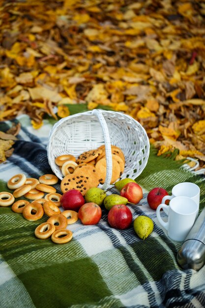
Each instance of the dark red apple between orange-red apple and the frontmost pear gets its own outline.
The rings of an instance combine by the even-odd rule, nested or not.
[[[132,223],[132,212],[125,204],[116,204],[108,213],[108,222],[115,229],[126,229]]]

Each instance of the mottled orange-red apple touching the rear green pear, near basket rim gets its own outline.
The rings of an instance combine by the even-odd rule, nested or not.
[[[129,203],[137,204],[143,198],[143,190],[137,183],[127,183],[120,191],[120,196],[127,198]]]

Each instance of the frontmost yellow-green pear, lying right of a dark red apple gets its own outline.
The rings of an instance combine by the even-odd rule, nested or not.
[[[133,227],[139,238],[145,240],[153,231],[154,223],[151,218],[141,215],[135,218]]]

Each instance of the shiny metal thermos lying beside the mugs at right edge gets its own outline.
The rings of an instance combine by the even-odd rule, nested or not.
[[[205,264],[205,208],[178,250],[176,260],[182,269],[195,271]]]

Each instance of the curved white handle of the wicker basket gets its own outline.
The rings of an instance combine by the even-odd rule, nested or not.
[[[102,186],[102,189],[107,189],[110,185],[113,173],[113,161],[112,161],[111,142],[110,142],[108,125],[103,117],[102,112],[99,109],[93,109],[91,114],[95,115],[98,118],[104,135],[105,154],[106,154],[106,178],[105,178],[105,183]]]

